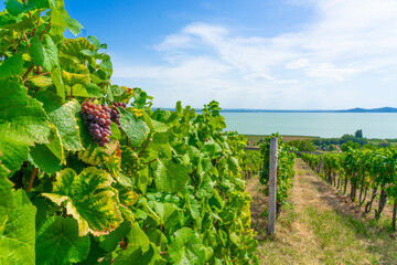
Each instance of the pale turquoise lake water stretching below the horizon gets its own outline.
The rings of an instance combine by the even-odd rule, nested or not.
[[[396,113],[222,113],[227,130],[246,135],[341,137],[363,130],[366,138],[397,138]]]

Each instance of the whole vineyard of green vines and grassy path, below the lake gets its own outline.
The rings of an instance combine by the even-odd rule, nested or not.
[[[63,0],[4,6],[0,264],[397,261],[395,147],[320,155],[311,137],[227,131],[216,100],[154,108],[143,89],[112,84],[107,44],[77,38],[83,25]],[[375,222],[342,211],[346,195]],[[279,225],[272,235],[268,208]],[[376,223],[385,209],[386,234]]]

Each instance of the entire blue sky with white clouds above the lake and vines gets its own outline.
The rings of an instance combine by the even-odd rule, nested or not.
[[[154,106],[397,107],[395,0],[65,0]]]

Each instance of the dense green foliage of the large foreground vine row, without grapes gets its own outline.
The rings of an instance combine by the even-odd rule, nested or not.
[[[0,15],[1,264],[258,264],[247,140],[218,103],[153,110],[112,85],[107,45],[63,35],[82,25],[62,0],[8,0]],[[105,147],[87,100],[128,104]]]

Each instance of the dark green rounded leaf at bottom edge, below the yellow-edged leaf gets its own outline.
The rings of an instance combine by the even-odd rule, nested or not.
[[[37,229],[37,264],[78,263],[88,252],[89,237],[78,236],[78,225],[73,218],[52,216]]]

